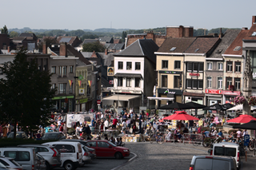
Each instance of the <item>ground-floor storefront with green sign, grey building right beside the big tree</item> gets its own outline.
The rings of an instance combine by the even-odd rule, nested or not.
[[[55,101],[54,109],[64,113],[74,112],[74,96],[54,97],[52,100]]]

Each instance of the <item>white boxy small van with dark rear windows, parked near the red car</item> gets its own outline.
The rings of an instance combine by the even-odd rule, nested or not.
[[[54,146],[61,153],[61,167],[66,170],[74,170],[83,165],[82,147],[79,142],[54,141],[44,144]]]

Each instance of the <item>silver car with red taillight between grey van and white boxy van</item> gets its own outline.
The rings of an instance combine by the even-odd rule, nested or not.
[[[35,152],[39,153],[46,160],[46,168],[57,168],[60,167],[61,154],[54,146],[47,146],[44,144],[20,144],[18,146],[34,148]]]

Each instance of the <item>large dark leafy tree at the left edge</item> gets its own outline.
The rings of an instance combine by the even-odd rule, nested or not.
[[[2,73],[5,77],[0,79],[0,117],[14,125],[14,138],[17,124],[30,132],[38,125],[47,125],[55,93],[50,85],[51,74],[38,69],[36,58],[29,61],[24,49],[14,61],[4,63]]]

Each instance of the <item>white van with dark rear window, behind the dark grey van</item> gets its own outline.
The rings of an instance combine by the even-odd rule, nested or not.
[[[237,168],[241,166],[239,144],[231,142],[221,142],[213,144],[212,148],[208,151],[211,156],[232,156],[236,160]]]

